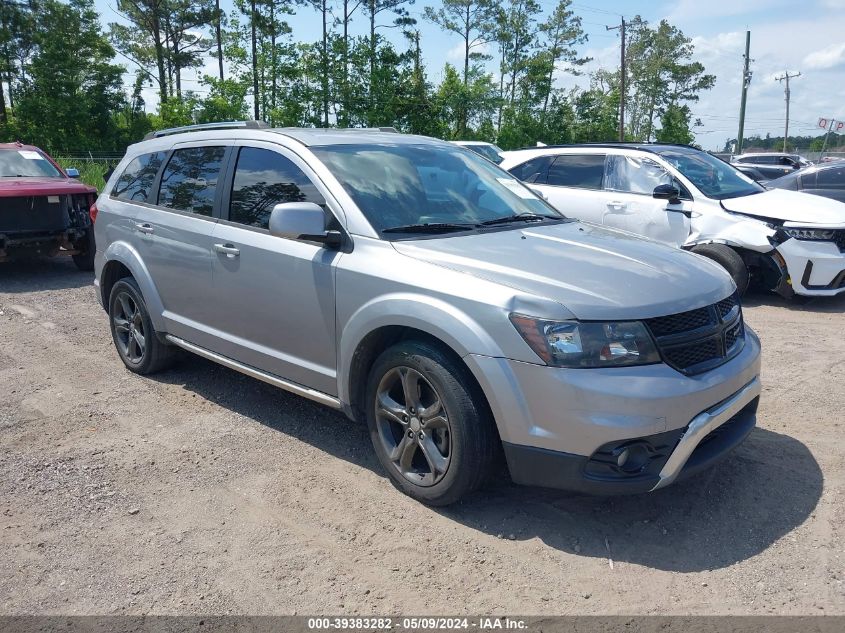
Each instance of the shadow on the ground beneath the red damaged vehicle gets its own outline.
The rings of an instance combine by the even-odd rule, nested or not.
[[[66,290],[93,283],[94,273],[79,270],[70,257],[0,262],[0,292]]]

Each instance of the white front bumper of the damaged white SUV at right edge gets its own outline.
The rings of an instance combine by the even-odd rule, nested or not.
[[[789,239],[777,250],[797,294],[824,297],[845,293],[845,252],[833,242]]]

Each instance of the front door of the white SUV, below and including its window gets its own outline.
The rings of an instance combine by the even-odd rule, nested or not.
[[[647,157],[614,154],[608,156],[604,184],[605,225],[672,246],[686,242],[692,200],[662,165]],[[681,202],[654,198],[654,188],[663,184],[678,187],[682,191]]]

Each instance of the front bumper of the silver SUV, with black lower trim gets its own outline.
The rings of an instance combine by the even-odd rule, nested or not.
[[[560,369],[465,360],[487,395],[516,483],[593,494],[654,490],[718,461],[756,421],[760,344],[747,326],[738,356],[696,376],[664,364]],[[643,460],[641,469],[636,461],[618,465],[626,448]]]

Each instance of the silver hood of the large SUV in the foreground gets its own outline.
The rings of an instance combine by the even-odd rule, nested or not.
[[[408,257],[552,299],[579,319],[665,316],[734,291],[730,276],[708,259],[581,222],[393,246]]]

